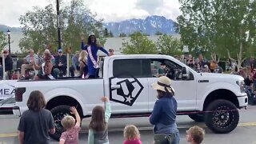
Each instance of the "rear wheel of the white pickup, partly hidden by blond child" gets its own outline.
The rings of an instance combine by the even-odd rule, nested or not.
[[[53,114],[55,124],[55,134],[50,134],[50,137],[53,138],[54,140],[59,141],[59,138],[61,137],[62,132],[64,131],[61,121],[62,118],[64,118],[67,114],[71,115],[70,106],[56,106],[53,109],[51,109],[50,112]]]

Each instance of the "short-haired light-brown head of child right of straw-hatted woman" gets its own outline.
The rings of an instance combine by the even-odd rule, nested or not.
[[[204,135],[205,130],[199,126],[192,126],[189,130],[186,130],[186,140],[190,142],[190,144],[202,143]]]

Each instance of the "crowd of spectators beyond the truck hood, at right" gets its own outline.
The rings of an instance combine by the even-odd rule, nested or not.
[[[198,54],[198,58],[192,57],[189,54],[187,57],[184,55],[178,57],[178,60],[190,66],[192,69],[196,70],[198,73],[225,73],[226,74],[237,74],[245,78],[245,91],[249,98],[249,104],[256,104],[256,61],[254,58],[247,58],[242,62],[242,66],[238,66],[237,62],[224,62],[225,66],[219,66],[220,62],[216,60],[207,61],[203,58],[202,54]],[[223,63],[223,62],[222,62]]]

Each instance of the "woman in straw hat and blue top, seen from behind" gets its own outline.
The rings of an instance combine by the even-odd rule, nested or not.
[[[162,76],[152,84],[153,89],[158,92],[158,100],[150,115],[150,123],[154,125],[155,144],[178,144],[180,139],[176,124],[177,101],[170,82],[170,78]]]

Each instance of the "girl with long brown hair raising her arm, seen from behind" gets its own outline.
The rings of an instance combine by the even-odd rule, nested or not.
[[[109,98],[103,97],[102,102],[106,103],[106,110],[102,106],[95,106],[90,121],[88,133],[88,144],[109,144],[108,127],[111,116]]]

